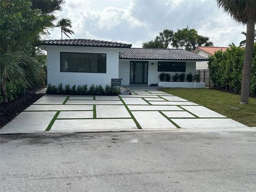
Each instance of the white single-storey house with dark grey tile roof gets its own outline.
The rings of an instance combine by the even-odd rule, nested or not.
[[[196,72],[196,62],[208,59],[182,49],[131,48],[131,44],[93,39],[44,40],[47,82],[52,85],[157,84],[161,73]]]

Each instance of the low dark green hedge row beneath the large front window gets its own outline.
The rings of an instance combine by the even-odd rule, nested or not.
[[[46,94],[64,94],[64,95],[118,95],[119,89],[117,86],[106,85],[105,90],[101,85],[91,85],[87,89],[87,85],[73,85],[70,89],[70,85],[63,85],[60,83],[57,86],[48,84]]]

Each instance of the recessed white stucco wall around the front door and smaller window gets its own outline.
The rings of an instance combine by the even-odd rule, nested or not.
[[[157,62],[158,61],[148,61],[148,85],[152,83],[157,84],[159,81],[158,76],[162,72],[157,71]],[[163,72],[163,73],[170,73],[171,77],[175,75],[175,72]],[[187,75],[189,73],[192,73],[193,75],[195,75],[196,73],[195,61],[186,62],[185,74]],[[181,72],[178,74],[181,74]],[[130,60],[119,60],[119,78],[122,78],[122,85],[130,84]],[[186,78],[185,78],[185,81],[186,81]]]

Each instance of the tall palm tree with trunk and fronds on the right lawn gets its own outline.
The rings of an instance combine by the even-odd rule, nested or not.
[[[244,65],[241,85],[241,104],[247,104],[250,96],[250,78],[252,71],[252,53],[254,29],[256,21],[255,0],[217,0],[219,7],[233,17],[237,22],[246,24],[246,40],[244,52]]]

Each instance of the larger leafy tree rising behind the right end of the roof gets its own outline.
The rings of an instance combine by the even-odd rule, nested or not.
[[[198,35],[196,29],[189,29],[188,26],[184,29],[178,29],[173,36],[172,46],[193,51],[197,46],[213,46],[209,37]]]

